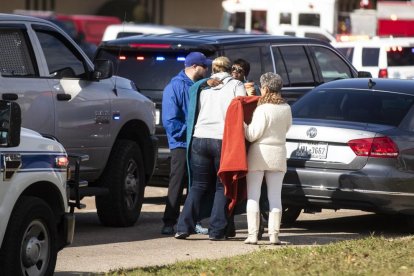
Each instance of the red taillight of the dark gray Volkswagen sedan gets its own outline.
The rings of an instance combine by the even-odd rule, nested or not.
[[[398,147],[389,137],[375,137],[355,139],[348,145],[357,156],[369,156],[378,158],[396,158]]]

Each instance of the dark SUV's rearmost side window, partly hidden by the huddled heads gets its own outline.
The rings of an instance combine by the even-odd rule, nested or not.
[[[231,61],[242,58],[250,63],[249,80],[259,83],[262,73],[261,51],[260,47],[233,48],[225,49],[224,55]]]

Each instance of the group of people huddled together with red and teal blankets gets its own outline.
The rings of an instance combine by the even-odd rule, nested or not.
[[[210,66],[212,74],[207,78]],[[162,122],[171,173],[162,234],[176,239],[208,234],[214,241],[234,237],[235,201],[247,199],[244,242],[257,244],[265,178],[269,241],[280,244],[285,143],[292,115],[281,95],[282,78],[264,73],[258,87],[246,81],[249,70],[243,59],[210,60],[201,52],[191,52],[184,69],[164,89]],[[188,193],[180,213],[184,187]],[[200,223],[207,217],[208,229]]]

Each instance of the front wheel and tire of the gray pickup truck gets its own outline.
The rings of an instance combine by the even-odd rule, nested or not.
[[[134,225],[141,213],[145,191],[144,163],[139,146],[130,140],[115,142],[101,178],[109,194],[96,196],[96,209],[103,225]]]

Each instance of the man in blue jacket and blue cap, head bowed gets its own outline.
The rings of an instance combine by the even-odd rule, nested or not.
[[[203,53],[189,53],[184,61],[185,68],[171,79],[163,92],[162,124],[171,151],[168,196],[163,216],[164,226],[161,230],[164,235],[173,235],[175,232],[174,225],[180,214],[183,189],[188,183],[186,163],[188,90],[194,82],[206,77],[209,65],[211,60]],[[207,234],[207,229],[202,229],[201,225],[197,225],[194,230]]]

